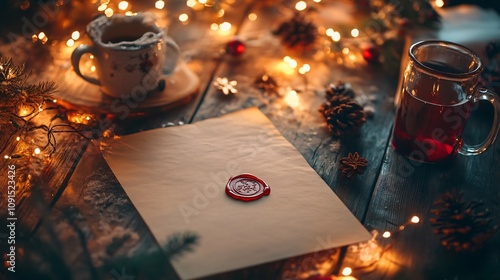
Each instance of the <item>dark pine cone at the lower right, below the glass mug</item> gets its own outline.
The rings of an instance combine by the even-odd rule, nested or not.
[[[465,202],[463,192],[456,190],[442,194],[431,213],[436,217],[430,222],[436,235],[441,235],[441,244],[455,252],[474,252],[481,248],[497,231],[490,213],[479,211],[483,203]]]

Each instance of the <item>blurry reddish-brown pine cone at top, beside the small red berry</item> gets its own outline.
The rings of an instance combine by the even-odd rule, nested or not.
[[[283,22],[278,29],[274,30],[273,34],[281,37],[283,44],[290,48],[309,47],[316,41],[318,29],[303,15],[295,14],[289,21]]]

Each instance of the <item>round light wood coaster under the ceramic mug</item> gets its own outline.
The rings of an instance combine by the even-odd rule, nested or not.
[[[198,93],[200,80],[185,63],[179,61],[171,76],[165,77],[165,89],[145,98],[115,98],[105,95],[98,86],[78,77],[72,69],[59,82],[57,103],[68,109],[115,116],[147,115],[170,110],[188,103]],[[142,100],[143,99],[143,100]],[[128,117],[128,116],[126,116]]]

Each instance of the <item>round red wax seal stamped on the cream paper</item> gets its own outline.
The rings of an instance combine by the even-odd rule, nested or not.
[[[257,200],[270,193],[271,188],[266,182],[248,173],[233,176],[226,184],[226,194],[238,200]]]

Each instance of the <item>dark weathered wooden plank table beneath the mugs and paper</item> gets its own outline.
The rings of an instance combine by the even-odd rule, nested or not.
[[[408,161],[390,145],[397,75],[390,74],[382,64],[367,65],[358,61],[354,66],[344,65],[335,59],[317,59],[310,54],[288,51],[270,34],[270,27],[287,17],[283,10],[259,4],[259,1],[241,2],[228,16],[228,21],[233,23],[232,34],[246,42],[247,49],[241,57],[217,54],[232,35],[210,30],[210,23],[203,16],[192,16],[189,24],[184,25],[177,20],[186,9],[184,4],[168,3],[169,35],[180,45],[184,62],[199,76],[199,93],[194,100],[164,113],[115,120],[110,127],[112,131],[130,134],[258,106],[366,228],[394,232],[412,216],[420,217],[419,224],[409,226],[392,240],[392,247],[375,266],[355,270],[353,276],[360,279],[500,279],[500,235],[495,235],[478,252],[459,254],[440,245],[429,223],[433,202],[440,194],[456,189],[463,191],[467,200],[482,200],[494,222],[500,224],[500,143],[497,141],[482,155],[458,156],[446,164]],[[257,20],[249,20],[249,13],[255,13]],[[319,14],[321,17],[321,12]],[[311,71],[302,76],[297,72],[287,74],[275,67],[285,55],[301,64],[310,64]],[[52,66],[45,69],[41,63],[30,60],[28,65],[34,67],[40,79],[60,81],[61,90],[70,83],[76,83],[81,92],[95,90],[79,79],[68,80],[68,75],[74,74],[67,64],[49,64]],[[253,81],[262,73],[276,77],[280,90],[285,93],[286,87],[302,90],[298,107],[288,105],[284,96],[263,95],[256,89]],[[238,93],[222,95],[212,85],[216,77],[237,80]],[[359,134],[340,140],[330,135],[318,113],[324,102],[325,85],[339,80],[349,82],[355,91],[368,97],[375,109]],[[467,128],[467,139],[471,141],[479,141],[489,130],[492,112],[486,108],[481,111],[484,113],[475,113]],[[102,135],[104,130],[97,134]],[[6,152],[12,151],[15,144]],[[340,158],[350,152],[358,152],[369,163],[363,175],[352,179],[342,177],[338,168]],[[11,163],[2,157],[2,174],[6,174],[7,165]],[[36,260],[38,265],[34,268],[19,266],[17,277],[23,279],[23,270],[27,273],[36,268],[51,275],[51,279],[177,278],[168,262],[136,262],[135,267],[105,265],[109,260],[141,256],[161,244],[152,236],[105,163],[98,139],[88,141],[73,133],[58,135],[57,151],[47,159],[43,170],[37,172],[42,174],[40,180],[32,187],[18,189],[17,193],[17,239],[20,244],[28,244],[24,245],[24,251],[18,251],[18,258],[43,258]],[[6,176],[0,178],[2,221],[6,221],[6,180]],[[4,232],[2,227],[0,233]],[[3,241],[2,252],[6,252]],[[46,246],[38,246],[40,244]],[[339,275],[343,267],[358,266],[346,248],[330,253],[334,261],[329,270],[335,275]],[[46,260],[64,266],[42,266]],[[299,279],[300,273],[315,270],[315,265],[323,261],[314,256],[299,256],[213,278]],[[13,274],[2,270],[2,275],[12,277]]]

